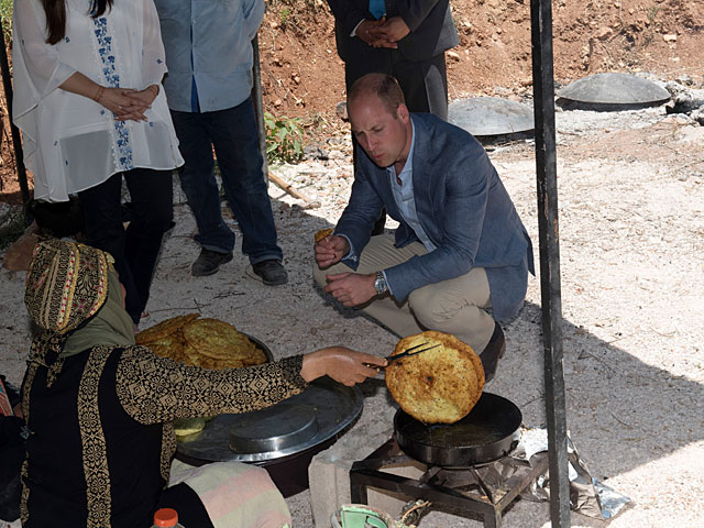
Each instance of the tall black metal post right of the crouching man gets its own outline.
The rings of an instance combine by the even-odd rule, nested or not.
[[[558,226],[552,9],[550,0],[530,0],[530,23],[546,411],[550,455],[550,518],[553,527],[568,528],[570,526],[570,481],[568,476],[564,373],[562,369],[560,232]]]

